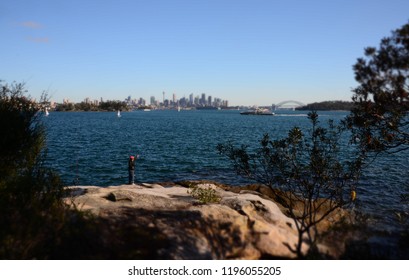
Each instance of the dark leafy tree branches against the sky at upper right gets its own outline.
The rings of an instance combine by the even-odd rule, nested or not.
[[[354,141],[369,151],[409,148],[409,24],[365,49],[353,67],[359,83],[347,118]]]

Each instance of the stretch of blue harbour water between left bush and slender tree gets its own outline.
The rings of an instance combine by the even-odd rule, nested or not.
[[[49,164],[67,184],[127,182],[127,160],[139,154],[140,182],[214,179],[237,183],[216,146],[254,145],[264,133],[285,135],[307,124],[306,114],[241,116],[238,111],[55,112],[46,118]]]

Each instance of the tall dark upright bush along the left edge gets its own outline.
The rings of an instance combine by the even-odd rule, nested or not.
[[[42,164],[41,103],[23,84],[0,84],[0,258],[33,258],[64,209],[59,177]]]

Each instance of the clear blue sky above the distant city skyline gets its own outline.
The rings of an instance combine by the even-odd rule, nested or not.
[[[2,0],[0,80],[57,102],[350,100],[356,59],[408,20],[408,0]]]

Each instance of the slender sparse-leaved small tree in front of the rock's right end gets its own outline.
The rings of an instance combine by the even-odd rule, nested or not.
[[[265,134],[261,147],[254,152],[233,143],[219,144],[218,150],[233,163],[239,175],[270,187],[294,220],[298,243],[287,244],[299,258],[317,253],[318,225],[337,209],[354,199],[355,184],[360,176],[363,156],[346,158],[340,150],[344,132],[332,121],[319,124],[318,115],[308,115],[312,129],[304,134],[294,127],[288,136],[270,140]],[[303,244],[308,250],[303,250]]]

